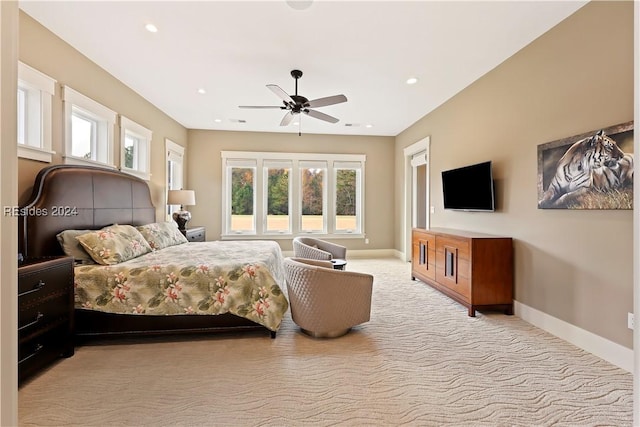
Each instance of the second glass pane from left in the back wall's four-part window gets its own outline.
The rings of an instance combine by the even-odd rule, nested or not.
[[[267,231],[290,230],[289,174],[290,169],[268,169],[267,182]]]

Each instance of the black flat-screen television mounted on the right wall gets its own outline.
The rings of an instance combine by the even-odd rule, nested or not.
[[[495,210],[491,162],[442,171],[442,192],[445,209]]]

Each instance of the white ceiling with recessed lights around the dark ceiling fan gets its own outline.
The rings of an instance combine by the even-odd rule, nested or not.
[[[20,8],[186,128],[298,132],[279,126],[280,110],[238,106],[280,105],[265,85],[293,94],[290,71],[300,69],[300,95],[348,98],[317,109],[338,123],[303,116],[303,133],[395,136],[585,3],[315,0],[299,10],[284,0],[21,1]],[[146,31],[148,23],[158,32]],[[418,83],[407,85],[409,77]]]

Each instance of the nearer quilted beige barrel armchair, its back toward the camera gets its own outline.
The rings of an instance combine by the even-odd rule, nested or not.
[[[291,317],[305,334],[335,338],[369,321],[372,275],[302,258],[286,258],[284,269]]]

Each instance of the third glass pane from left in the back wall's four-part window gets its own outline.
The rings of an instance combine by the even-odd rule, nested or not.
[[[324,169],[302,168],[300,170],[302,182],[302,215],[301,228],[303,231],[324,230]]]

